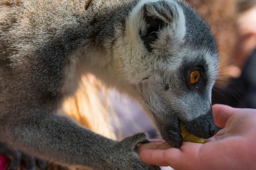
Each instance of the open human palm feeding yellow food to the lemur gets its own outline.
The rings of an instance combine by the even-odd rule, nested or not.
[[[215,123],[224,129],[206,144],[183,142],[180,149],[165,142],[140,145],[147,164],[175,170],[256,170],[256,110],[212,107]]]

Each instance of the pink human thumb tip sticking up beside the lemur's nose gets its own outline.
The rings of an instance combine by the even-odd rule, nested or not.
[[[218,127],[224,128],[227,123],[227,120],[239,110],[239,108],[232,108],[227,105],[213,105],[212,113],[215,124]]]

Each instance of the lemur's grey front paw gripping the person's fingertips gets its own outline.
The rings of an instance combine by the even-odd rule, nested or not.
[[[138,154],[137,144],[150,143],[146,133],[137,133],[115,144],[115,155],[118,161],[115,168],[118,170],[161,170],[160,167],[143,163]]]

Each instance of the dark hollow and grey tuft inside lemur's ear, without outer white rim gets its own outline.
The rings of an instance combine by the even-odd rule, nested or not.
[[[141,7],[141,14],[146,26],[144,29],[141,28],[140,37],[148,51],[152,51],[151,44],[158,39],[159,31],[166,26],[177,26],[179,17],[177,4],[165,0],[145,3]]]

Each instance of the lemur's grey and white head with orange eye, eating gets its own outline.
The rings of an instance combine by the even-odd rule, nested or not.
[[[180,147],[179,122],[195,136],[215,133],[211,91],[218,56],[210,29],[179,0],[140,2],[119,40],[122,75],[131,84],[161,136]]]

